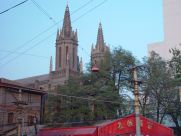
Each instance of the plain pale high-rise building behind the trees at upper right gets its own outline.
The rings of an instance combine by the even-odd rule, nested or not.
[[[164,41],[148,45],[148,52],[155,51],[170,60],[171,48],[181,49],[181,0],[163,0]]]

